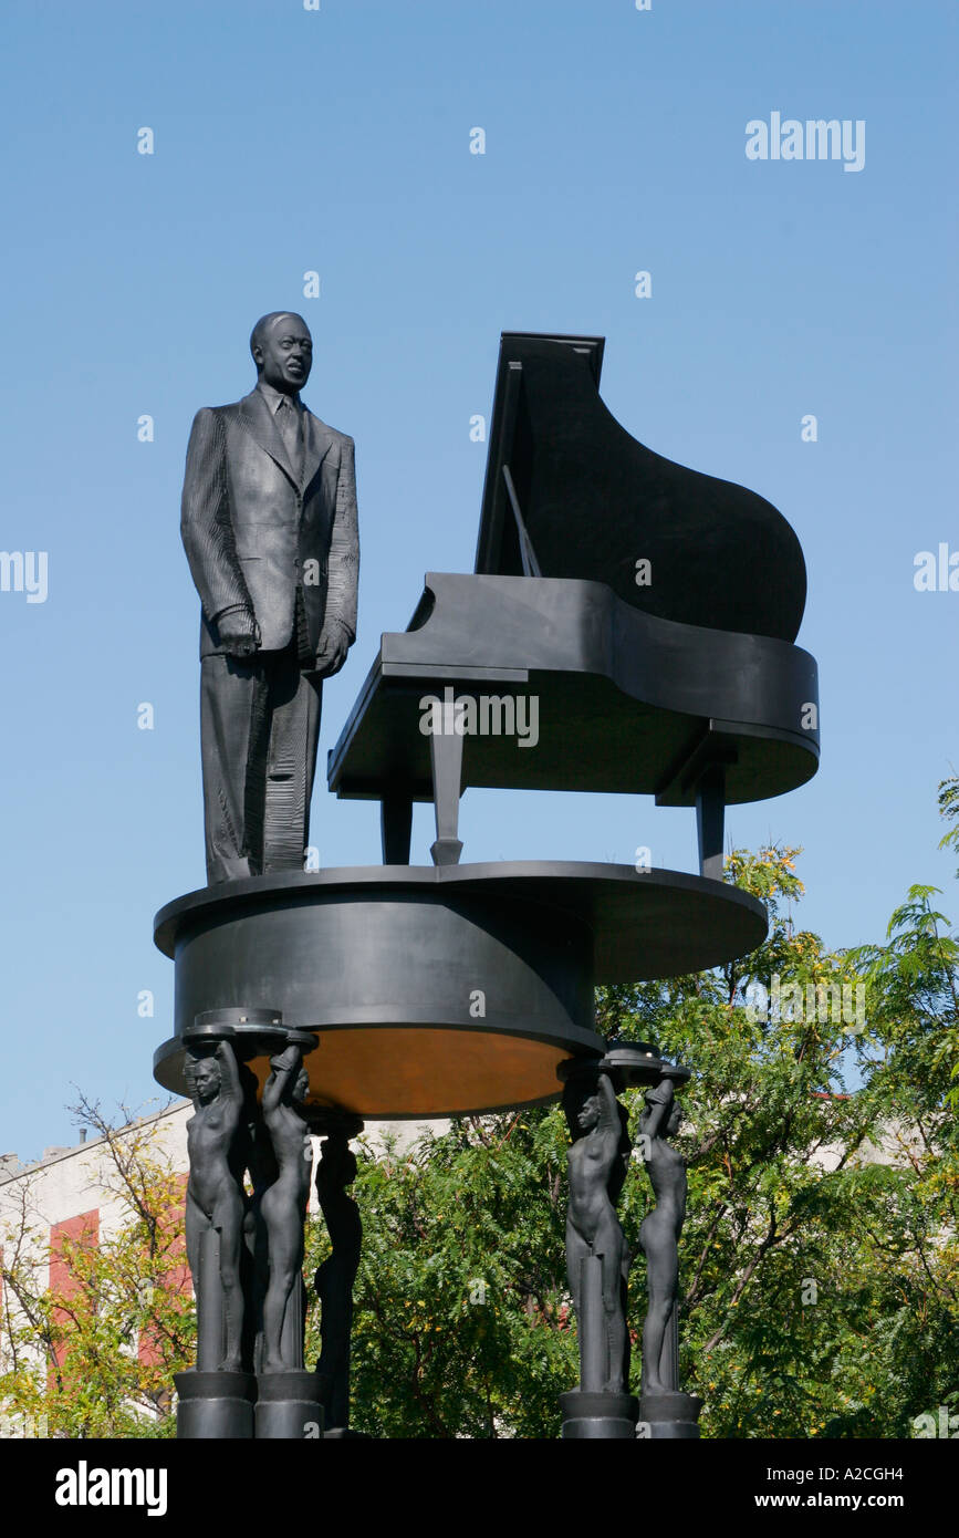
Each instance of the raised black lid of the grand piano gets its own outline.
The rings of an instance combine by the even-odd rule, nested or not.
[[[805,563],[756,492],[653,454],[599,398],[601,337],[503,332],[476,572],[524,575],[509,468],[543,577],[607,583],[664,620],[795,641]],[[636,561],[652,563],[650,586]]]

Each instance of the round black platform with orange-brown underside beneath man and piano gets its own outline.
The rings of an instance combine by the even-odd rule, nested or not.
[[[320,1034],[310,1101],[415,1118],[536,1104],[596,1055],[593,987],[702,970],[762,943],[765,909],[676,871],[504,861],[289,872],[191,892],[154,938],[177,967],[154,1057],[184,1094],[183,1030],[209,1009],[281,1010]],[[266,1058],[255,1060],[263,1080]]]

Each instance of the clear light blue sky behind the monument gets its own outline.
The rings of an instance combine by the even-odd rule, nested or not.
[[[183,455],[195,409],[251,388],[267,309],[303,311],[304,398],[357,440],[360,637],[323,763],[424,571],[472,569],[469,418],[499,331],[599,334],[619,421],[768,497],[805,551],[822,767],[733,809],[732,837],[804,846],[801,917],[830,944],[878,938],[913,881],[959,917],[934,804],[959,764],[959,594],[913,588],[918,551],[959,549],[951,0],[5,15],[0,544],[49,552],[49,594],[0,594],[0,1152],[74,1141],[71,1081],[106,1104],[157,1094],[172,966],[151,920],[203,883]],[[773,111],[862,118],[865,168],[747,160],[747,122]],[[461,832],[464,858],[695,861],[692,814],[649,800],[470,791]],[[429,840],[423,809],[415,860]],[[324,864],[378,861],[377,807],[318,783],[314,841]]]

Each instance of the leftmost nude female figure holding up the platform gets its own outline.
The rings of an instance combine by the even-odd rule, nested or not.
[[[243,1247],[243,1189],[235,1169],[235,1144],[243,1110],[243,1090],[234,1049],[217,1043],[209,1057],[187,1057],[184,1069],[195,1114],[186,1123],[189,1183],[186,1187],[186,1255],[197,1298],[209,1297],[209,1278],[201,1281],[203,1237],[218,1237],[220,1286],[223,1290],[224,1350],[217,1363],[221,1372],[240,1372],[243,1338],[243,1287],[240,1253]],[[200,1341],[214,1353],[211,1324],[198,1306]],[[206,1330],[204,1330],[206,1324]],[[204,1352],[206,1355],[206,1352]]]

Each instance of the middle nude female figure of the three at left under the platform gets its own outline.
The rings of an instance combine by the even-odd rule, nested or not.
[[[312,1144],[295,1101],[304,1100],[309,1077],[303,1067],[303,1052],[295,1043],[272,1057],[270,1066],[272,1074],[263,1089],[263,1121],[274,1144],[278,1173],[260,1200],[269,1258],[269,1283],[263,1300],[263,1372],[286,1372],[303,1367],[303,1343],[298,1361],[284,1358],[283,1323],[294,1290],[303,1287],[303,1223]]]

